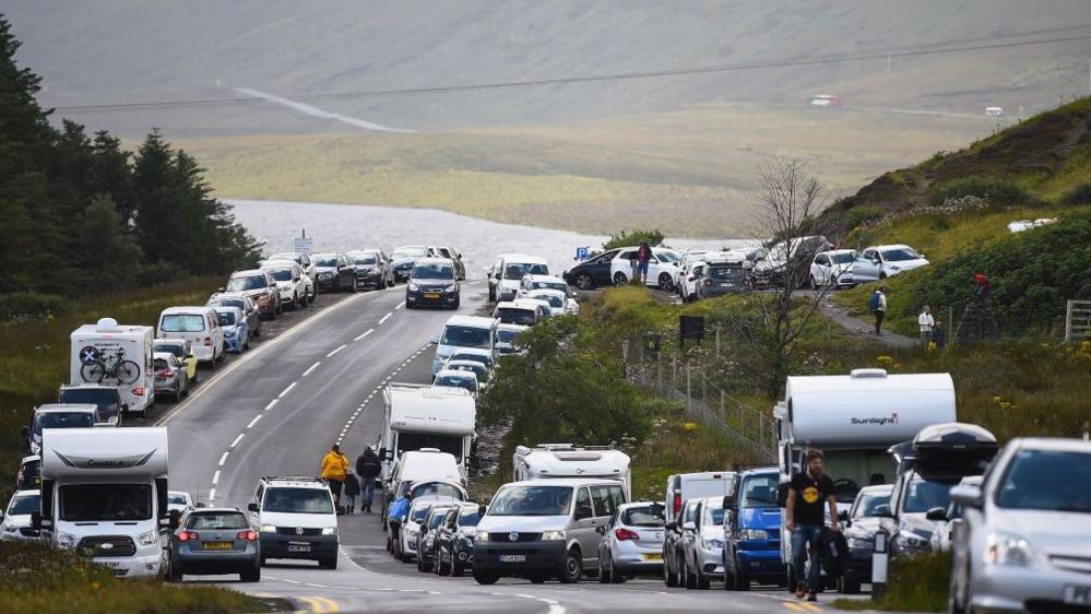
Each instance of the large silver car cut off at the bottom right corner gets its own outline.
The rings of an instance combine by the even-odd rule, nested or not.
[[[951,535],[950,607],[964,612],[1091,609],[1091,442],[1013,439],[981,487],[962,484]]]

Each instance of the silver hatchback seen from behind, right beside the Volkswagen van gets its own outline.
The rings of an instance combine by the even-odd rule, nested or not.
[[[609,522],[596,529],[598,542],[598,581],[620,583],[642,571],[663,571],[664,507],[661,503],[640,501],[617,508]]]

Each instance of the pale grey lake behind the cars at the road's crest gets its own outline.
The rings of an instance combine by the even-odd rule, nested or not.
[[[325,204],[224,199],[235,206],[235,216],[253,236],[264,239],[265,251],[292,250],[293,239],[304,228],[315,239],[315,251],[351,251],[378,247],[390,253],[400,245],[442,245],[462,252],[466,273],[484,276],[484,268],[498,253],[534,253],[560,273],[573,264],[576,249],[597,248],[606,237],[535,226],[500,224],[436,209]],[[677,249],[720,248],[755,241],[668,239]]]

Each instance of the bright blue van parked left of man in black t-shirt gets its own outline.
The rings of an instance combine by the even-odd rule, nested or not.
[[[725,590],[750,590],[750,582],[781,585],[781,508],[776,506],[780,471],[775,467],[745,471],[724,497]]]

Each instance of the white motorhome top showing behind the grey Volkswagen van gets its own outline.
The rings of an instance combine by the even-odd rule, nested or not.
[[[555,477],[593,477],[617,480],[632,497],[629,454],[607,446],[577,447],[571,444],[538,444],[533,448],[517,446],[511,459],[512,480],[550,480]]]

